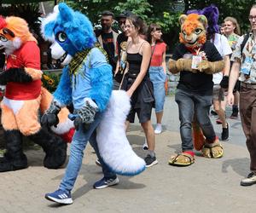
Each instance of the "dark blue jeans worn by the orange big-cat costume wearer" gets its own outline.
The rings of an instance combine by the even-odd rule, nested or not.
[[[175,101],[178,105],[183,152],[191,151],[194,148],[192,141],[194,112],[195,118],[200,124],[207,141],[214,141],[216,135],[209,118],[209,111],[212,106],[212,95],[200,95],[191,91],[177,89]]]

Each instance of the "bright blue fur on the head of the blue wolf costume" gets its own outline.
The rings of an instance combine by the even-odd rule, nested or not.
[[[66,3],[59,4],[59,11],[56,20],[51,20],[44,26],[44,37],[51,39],[55,36],[55,27],[61,26],[73,43],[75,52],[93,47],[96,37],[90,20],[80,12],[74,12]]]

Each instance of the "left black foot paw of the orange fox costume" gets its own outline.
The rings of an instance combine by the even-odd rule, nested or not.
[[[8,158],[6,156],[0,158],[0,172],[23,170],[26,169],[27,166],[26,155],[16,159]]]

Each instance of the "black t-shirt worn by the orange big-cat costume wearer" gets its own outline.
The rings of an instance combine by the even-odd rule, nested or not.
[[[202,47],[200,51],[204,51],[207,60],[209,61],[218,61],[223,58],[219,55],[218,50],[214,46],[213,43],[207,41]],[[173,60],[178,60],[180,58],[188,58],[188,55],[191,55],[189,49],[185,47],[183,43],[179,43],[174,49],[174,53],[172,55]],[[177,89],[189,90],[202,95],[212,95],[212,75],[207,74],[205,72],[189,72],[182,71],[180,72],[179,82],[177,84]]]

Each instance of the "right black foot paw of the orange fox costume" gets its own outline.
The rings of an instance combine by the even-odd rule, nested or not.
[[[44,157],[44,167],[48,169],[59,169],[65,164],[67,158],[67,143],[55,144]]]

